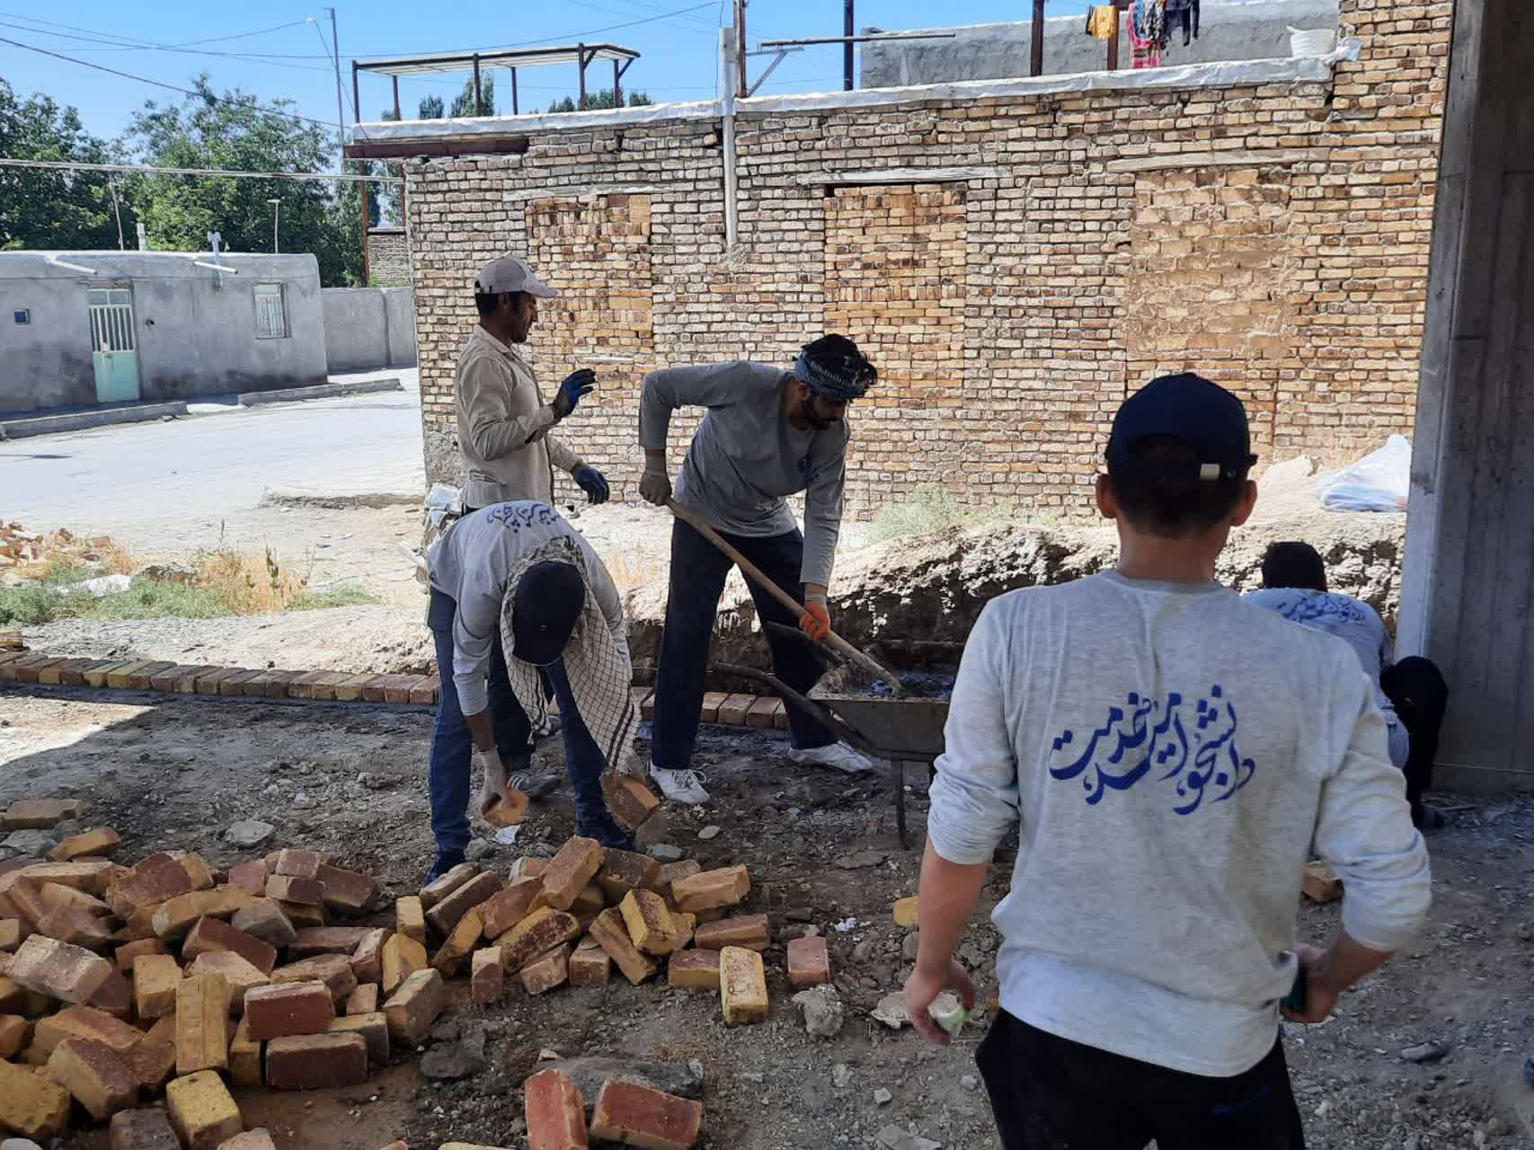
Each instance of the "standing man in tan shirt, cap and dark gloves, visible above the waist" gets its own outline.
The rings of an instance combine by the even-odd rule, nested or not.
[[[508,500],[554,503],[554,468],[569,472],[592,503],[606,503],[607,480],[549,434],[597,385],[591,368],[572,371],[548,403],[532,365],[517,350],[538,322],[551,288],[518,256],[492,259],[474,282],[479,324],[459,353],[454,383],[465,512]]]

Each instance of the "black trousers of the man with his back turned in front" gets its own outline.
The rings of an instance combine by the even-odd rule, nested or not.
[[[1304,1150],[1284,1047],[1206,1078],[1057,1038],[1005,1010],[976,1053],[1003,1150]]]

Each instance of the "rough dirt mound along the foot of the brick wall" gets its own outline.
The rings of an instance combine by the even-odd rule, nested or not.
[[[1232,535],[1218,578],[1236,590],[1261,584],[1262,552],[1279,540],[1305,540],[1321,552],[1333,590],[1356,595],[1393,619],[1401,604],[1405,515],[1338,515],[1289,508]],[[836,630],[865,647],[890,639],[963,642],[980,609],[1019,587],[1068,583],[1111,567],[1118,540],[1111,524],[1039,527],[992,523],[948,529],[856,550],[838,564],[831,593]],[[629,646],[635,662],[655,659],[666,587],[629,595]],[[767,664],[756,610],[744,592],[724,593],[713,658]]]

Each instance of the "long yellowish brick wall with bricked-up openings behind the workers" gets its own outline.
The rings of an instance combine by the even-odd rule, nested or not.
[[[428,474],[457,471],[469,285],[505,251],[569,294],[529,351],[546,391],[598,370],[560,434],[618,498],[646,371],[787,366],[828,330],[882,377],[853,408],[853,514],[927,483],[1078,514],[1114,408],[1167,370],[1247,397],[1266,460],[1355,457],[1411,428],[1450,9],[1342,0],[1364,51],[1327,83],[742,113],[733,251],[718,121],[411,163]],[[833,178],[936,167],[976,170]]]

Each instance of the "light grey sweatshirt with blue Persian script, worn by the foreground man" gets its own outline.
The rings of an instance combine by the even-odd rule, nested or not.
[[[992,915],[1002,1006],[1063,1038],[1207,1076],[1255,1066],[1312,854],[1364,946],[1397,949],[1427,914],[1358,658],[1216,584],[1108,572],[997,598],[945,736],[933,848],[988,862],[1020,822]]]

